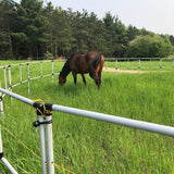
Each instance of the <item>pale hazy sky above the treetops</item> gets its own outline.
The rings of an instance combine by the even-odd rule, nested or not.
[[[20,0],[15,0],[20,2]],[[128,26],[145,27],[158,34],[174,35],[174,0],[44,0],[63,10],[95,12],[99,18],[107,12]]]

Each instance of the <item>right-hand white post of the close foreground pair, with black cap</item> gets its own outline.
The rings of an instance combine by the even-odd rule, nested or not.
[[[48,154],[48,173],[54,174],[53,165],[53,141],[52,141],[52,104],[46,103],[46,125],[47,125],[47,154]]]

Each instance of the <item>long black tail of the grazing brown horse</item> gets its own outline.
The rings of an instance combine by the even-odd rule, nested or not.
[[[89,61],[89,75],[91,78],[96,77],[95,69],[101,63],[101,54],[98,53],[95,59]]]

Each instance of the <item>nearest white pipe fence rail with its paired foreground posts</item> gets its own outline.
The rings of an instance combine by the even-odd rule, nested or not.
[[[52,104],[52,103],[46,103],[44,107],[42,103],[34,102],[33,100],[28,98],[25,98],[23,96],[16,95],[11,91],[8,91],[5,89],[0,88],[0,91],[22,102],[25,102],[29,105],[34,105],[36,109],[38,109],[39,111],[46,114],[46,117],[44,117],[44,116],[39,116],[40,114],[39,113],[38,121],[35,123],[35,126],[39,126],[42,174],[47,173],[47,165],[48,165],[48,173],[49,174],[54,173],[53,146],[52,146],[52,120],[51,120],[51,112],[48,113],[48,111],[59,111],[63,113],[99,120],[103,122],[119,124],[122,126],[142,129],[147,132],[158,133],[158,134],[167,135],[167,136],[174,136],[174,127],[171,127],[171,126],[159,125],[154,123],[125,119],[125,117],[120,117],[115,115],[91,112],[91,111],[86,111],[86,110],[80,110],[80,109],[75,109],[75,108],[70,108],[70,107],[64,107],[64,105],[58,105],[58,104]],[[44,108],[46,108],[46,110],[44,110]],[[44,124],[46,124],[47,126],[47,138],[45,136],[45,125]],[[46,142],[46,139],[47,139],[47,142]]]

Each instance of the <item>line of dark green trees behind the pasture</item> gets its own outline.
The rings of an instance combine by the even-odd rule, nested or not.
[[[100,20],[87,10],[44,5],[40,0],[0,0],[0,59],[70,57],[99,51],[104,57],[169,57],[174,36],[125,26],[110,12]]]

